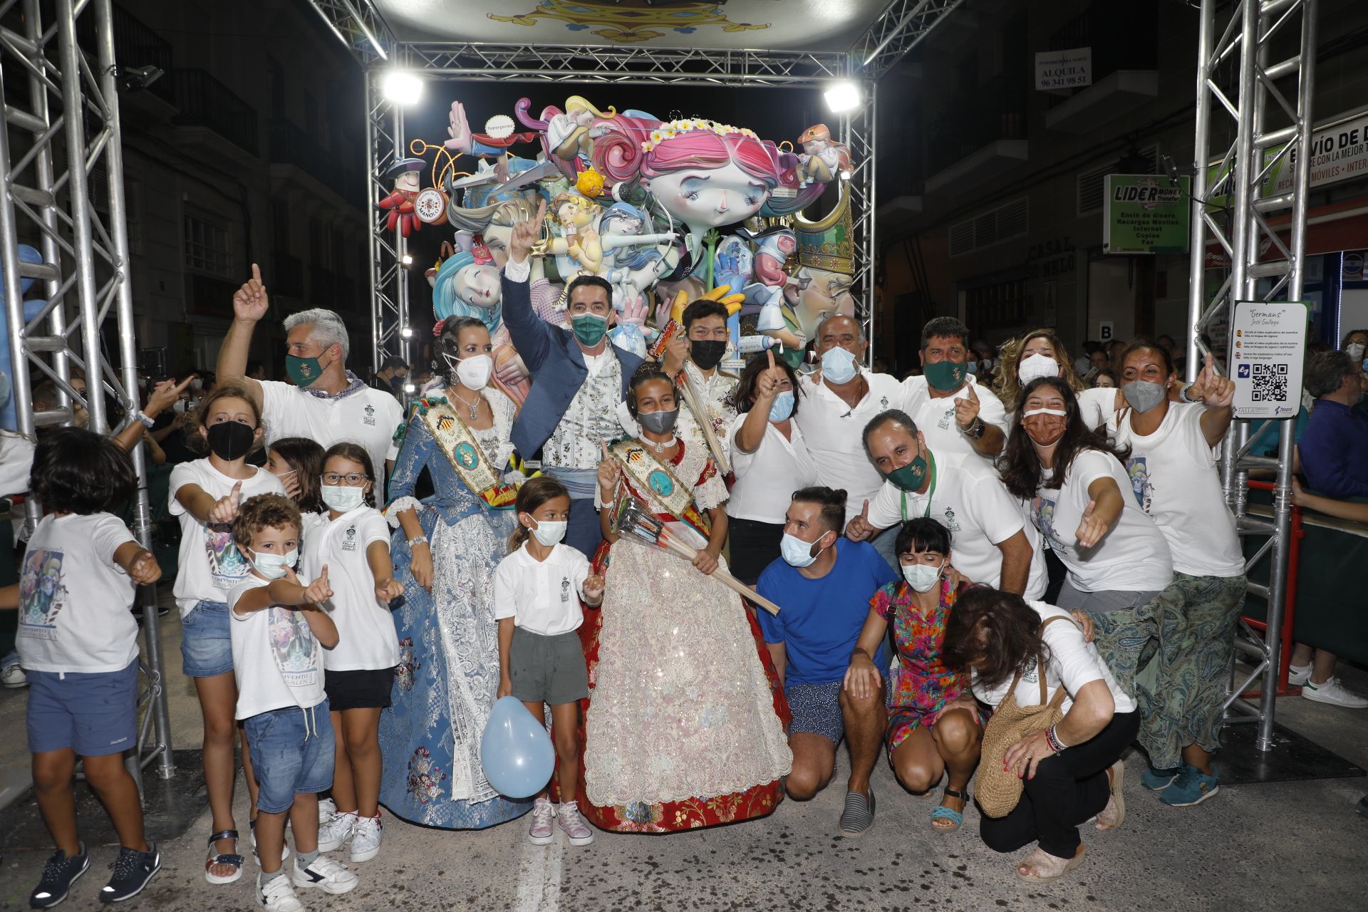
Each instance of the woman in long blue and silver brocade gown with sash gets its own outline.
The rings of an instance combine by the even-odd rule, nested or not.
[[[415,403],[384,509],[398,526],[390,551],[404,596],[393,706],[380,715],[380,801],[415,823],[482,829],[532,809],[531,799],[498,794],[480,766],[499,685],[494,567],[517,525],[512,481],[521,476],[502,473],[517,407],[487,386],[482,321],[442,321],[434,350],[445,386]],[[436,494],[420,502],[424,468]]]

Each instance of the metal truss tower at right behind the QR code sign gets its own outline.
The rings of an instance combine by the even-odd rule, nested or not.
[[[1238,0],[1218,15],[1220,0],[1201,1],[1197,57],[1197,118],[1193,176],[1193,253],[1189,276],[1189,316],[1193,338],[1187,346],[1189,379],[1196,377],[1207,349],[1201,334],[1218,317],[1228,319],[1237,301],[1300,301],[1306,231],[1306,178],[1311,156],[1312,93],[1316,70],[1316,0]],[[1228,15],[1228,18],[1227,18]],[[1294,48],[1274,59],[1274,45]],[[1233,62],[1238,59],[1238,66]],[[1234,141],[1224,149],[1212,148],[1212,120],[1224,112],[1234,127]],[[1291,156],[1294,178],[1287,193],[1268,193],[1264,178],[1278,163]],[[1218,159],[1219,157],[1219,159]],[[1218,161],[1213,172],[1208,163]],[[1224,200],[1223,206],[1200,205]],[[1270,227],[1270,217],[1290,215],[1289,242]],[[1228,215],[1228,222],[1226,216]],[[1205,298],[1205,253],[1209,243],[1220,245],[1230,257],[1230,275],[1216,297]],[[1260,247],[1276,252],[1260,258]],[[1260,291],[1260,280],[1268,279]],[[1233,349],[1231,349],[1233,351]],[[1228,356],[1230,353],[1227,353]],[[1233,358],[1231,358],[1233,360]],[[1231,362],[1227,360],[1227,364]],[[1248,421],[1237,421],[1226,436],[1222,454],[1222,483],[1226,500],[1239,524],[1241,535],[1265,541],[1249,561],[1271,561],[1268,585],[1249,584],[1249,591],[1267,598],[1267,633],[1259,636],[1244,626],[1237,647],[1254,670],[1244,684],[1231,688],[1226,710],[1228,722],[1256,722],[1257,745],[1274,747],[1274,697],[1278,695],[1279,632],[1287,587],[1287,558],[1291,525],[1293,421],[1280,424],[1278,458],[1249,455],[1253,438]],[[1267,427],[1267,425],[1264,425]],[[1250,515],[1248,509],[1249,469],[1276,469],[1272,520]],[[1241,699],[1244,689],[1263,678],[1261,699],[1253,706]]]

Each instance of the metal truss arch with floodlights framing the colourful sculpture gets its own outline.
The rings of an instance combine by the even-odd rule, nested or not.
[[[389,193],[386,171],[405,152],[404,112],[384,100],[380,78],[391,67],[440,81],[577,82],[618,85],[798,88],[854,79],[863,107],[841,116],[841,135],[854,153],[850,190],[855,219],[852,295],[870,339],[874,312],[876,86],[960,0],[895,0],[845,52],[622,45],[529,45],[395,41],[368,0],[309,0],[328,27],[367,70],[367,155],[371,175],[371,314],[373,361],[408,358],[408,273],[404,238],[387,230],[375,206]]]

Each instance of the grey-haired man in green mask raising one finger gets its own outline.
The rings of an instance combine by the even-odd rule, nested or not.
[[[244,376],[252,332],[269,306],[261,269],[253,263],[252,279],[233,295],[233,325],[219,349],[219,381],[235,380],[248,388],[261,409],[268,446],[280,438],[309,438],[323,448],[342,442],[364,447],[379,476],[375,491],[380,496],[398,455],[394,433],[404,424],[402,406],[346,369],[352,345],[346,324],[321,308],[285,319],[285,371],[290,383]]]

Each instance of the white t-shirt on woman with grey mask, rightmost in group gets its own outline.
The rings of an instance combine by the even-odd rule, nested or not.
[[[1140,435],[1130,416],[1115,416],[1107,432],[1130,447],[1129,491],[1168,540],[1174,569],[1189,576],[1237,577],[1245,555],[1235,517],[1226,506],[1216,457],[1201,431],[1207,406],[1168,405],[1159,429]]]

